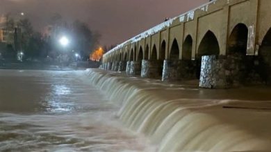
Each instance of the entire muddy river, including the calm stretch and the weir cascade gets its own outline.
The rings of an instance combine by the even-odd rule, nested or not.
[[[271,151],[271,88],[0,70],[0,151]]]

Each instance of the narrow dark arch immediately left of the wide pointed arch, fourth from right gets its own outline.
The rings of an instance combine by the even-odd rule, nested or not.
[[[192,58],[192,37],[188,35],[183,42],[183,51],[182,51],[182,59],[190,60]]]

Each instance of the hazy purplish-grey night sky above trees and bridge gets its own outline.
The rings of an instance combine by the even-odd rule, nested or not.
[[[101,45],[120,44],[144,30],[208,0],[0,0],[0,13],[24,12],[37,29],[58,13],[79,19],[101,34]]]

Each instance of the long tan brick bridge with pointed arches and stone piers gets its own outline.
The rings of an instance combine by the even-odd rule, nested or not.
[[[110,50],[101,68],[204,88],[271,82],[271,1],[217,0]]]

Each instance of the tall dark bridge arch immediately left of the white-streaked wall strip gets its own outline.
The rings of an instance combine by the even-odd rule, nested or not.
[[[244,23],[238,23],[227,41],[227,55],[246,55],[248,28]]]

